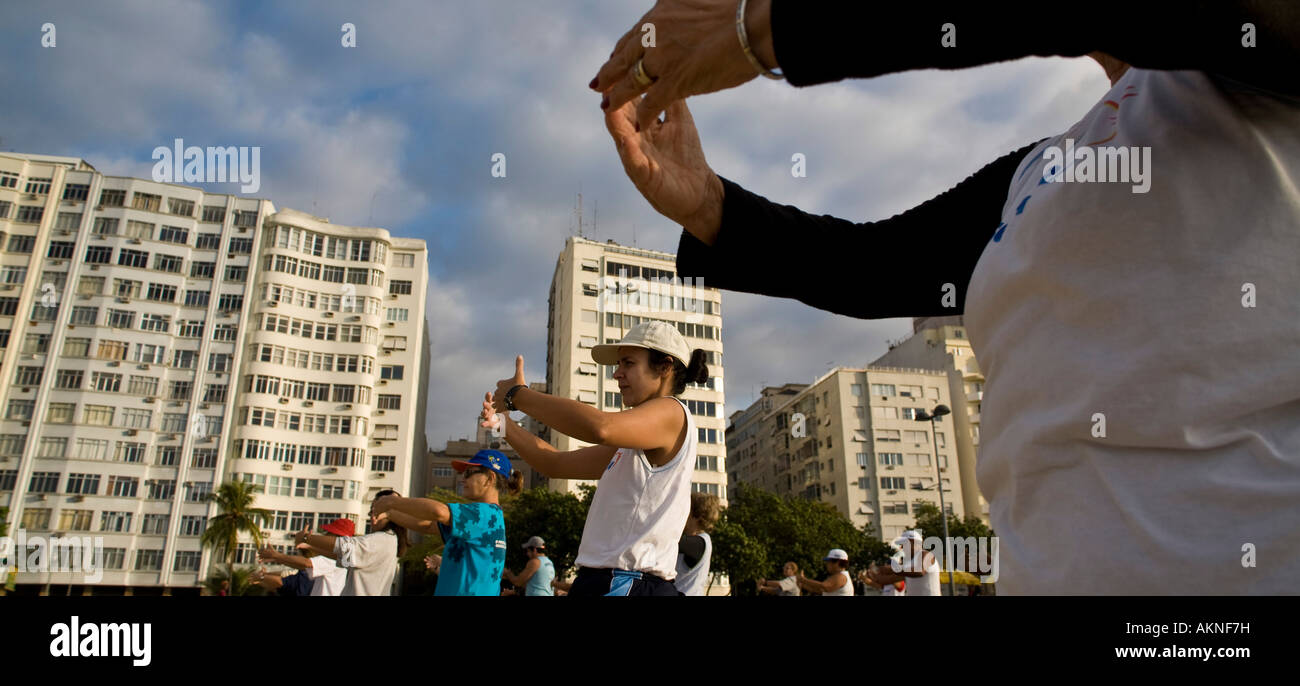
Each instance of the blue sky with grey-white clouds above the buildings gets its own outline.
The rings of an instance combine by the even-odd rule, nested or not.
[[[157,146],[260,146],[277,208],[429,244],[430,444],[474,430],[523,353],[545,378],[546,295],[576,231],[675,251],[586,88],[650,0],[114,1],[0,8],[0,149],[148,178]],[[55,23],[57,44],[40,45]],[[356,47],[341,26],[356,26]],[[758,79],[690,100],[715,172],[805,210],[889,217],[1074,123],[1108,88],[1087,58],[814,88]],[[507,156],[493,178],[491,156]],[[807,177],[790,175],[803,153]],[[238,187],[214,184],[217,192]],[[594,220],[594,226],[593,226]],[[918,251],[920,253],[924,249]],[[863,256],[870,259],[870,256]],[[767,383],[863,365],[905,320],[723,296],[727,412]]]

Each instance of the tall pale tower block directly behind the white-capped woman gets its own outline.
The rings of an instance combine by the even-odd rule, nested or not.
[[[676,256],[670,252],[569,236],[551,278],[546,387],[606,412],[623,409],[614,366],[592,361],[590,348],[619,342],[646,320],[672,324],[688,346],[708,353],[708,382],[689,385],[681,395],[699,438],[693,487],[725,502],[722,292],[707,285],[694,287],[689,279],[675,288],[668,285],[675,278]],[[550,439],[560,451],[588,446],[558,431]],[[551,479],[551,489],[575,490],[578,483]]]

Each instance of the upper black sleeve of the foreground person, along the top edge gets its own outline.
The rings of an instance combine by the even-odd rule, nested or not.
[[[776,62],[794,86],[1100,51],[1139,69],[1206,71],[1300,95],[1295,0],[772,0],[771,21]],[[953,47],[941,44],[945,23],[956,29]],[[1243,45],[1245,23],[1254,25],[1254,47]]]

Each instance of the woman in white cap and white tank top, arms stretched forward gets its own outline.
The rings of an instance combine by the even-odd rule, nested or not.
[[[677,539],[690,514],[698,440],[677,395],[688,383],[708,379],[705,351],[690,349],[671,324],[645,321],[623,340],[592,348],[592,359],[615,365],[614,379],[630,409],[602,412],[529,388],[520,356],[514,378],[498,382],[484,400],[484,426],[504,421],[506,440],[550,478],[599,479],[569,595],[676,596]],[[507,411],[593,446],[556,451],[511,421]]]

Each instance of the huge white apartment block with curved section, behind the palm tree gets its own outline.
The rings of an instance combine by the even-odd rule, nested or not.
[[[421,468],[422,242],[16,153],[0,231],[0,505],[10,534],[101,537],[100,592],[192,591],[225,481],[265,487],[287,546]]]

